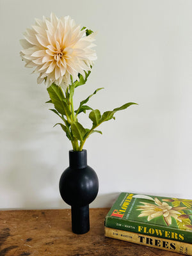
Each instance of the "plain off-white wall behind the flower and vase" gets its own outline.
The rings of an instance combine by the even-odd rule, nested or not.
[[[100,181],[91,206],[110,206],[120,191],[192,198],[191,8],[188,0],[0,0],[0,209],[67,207],[58,182],[71,146],[19,56],[22,33],[51,12],[98,31],[98,60],[76,105],[99,87],[93,108],[139,104],[86,142]]]

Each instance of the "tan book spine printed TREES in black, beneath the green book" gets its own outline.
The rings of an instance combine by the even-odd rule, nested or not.
[[[192,244],[189,243],[183,243],[153,236],[145,236],[143,234],[137,234],[129,231],[107,227],[105,227],[105,236],[131,243],[142,244],[153,248],[168,250],[170,252],[178,252],[185,255],[192,255]]]

